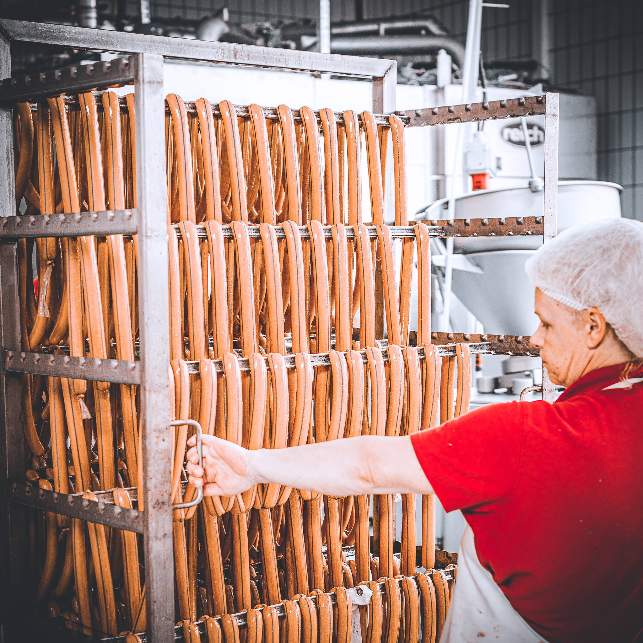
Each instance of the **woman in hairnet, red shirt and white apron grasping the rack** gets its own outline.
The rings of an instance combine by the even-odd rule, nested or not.
[[[246,451],[204,437],[206,494],[258,482],[326,494],[436,493],[462,509],[442,641],[631,642],[643,631],[643,224],[565,231],[525,268],[544,401],[486,406],[407,437]],[[192,439],[194,444],[194,438]],[[203,477],[202,477],[203,476]]]

